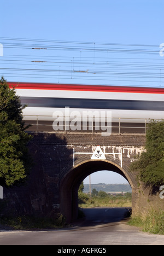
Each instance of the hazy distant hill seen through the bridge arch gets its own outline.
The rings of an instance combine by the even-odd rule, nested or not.
[[[107,193],[111,192],[131,192],[131,186],[130,184],[104,184],[104,183],[98,183],[98,184],[91,184],[91,192],[92,189],[96,189],[97,191],[102,190]],[[90,185],[85,184],[84,185],[84,193],[89,193],[90,191]]]

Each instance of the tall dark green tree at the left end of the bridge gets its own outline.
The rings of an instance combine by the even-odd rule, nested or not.
[[[11,186],[24,181],[31,158],[27,143],[32,138],[25,132],[20,98],[7,81],[0,80],[0,182]]]

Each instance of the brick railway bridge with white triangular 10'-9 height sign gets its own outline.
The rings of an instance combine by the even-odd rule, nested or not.
[[[134,157],[144,150],[144,133],[32,132],[28,147],[34,165],[26,184],[4,188],[10,212],[52,217],[60,212],[67,222],[78,217],[78,189],[91,173],[109,170],[121,174],[132,188],[132,213],[151,205],[163,207],[159,195],[139,187],[130,171]],[[110,183],[110,180],[107,181]]]

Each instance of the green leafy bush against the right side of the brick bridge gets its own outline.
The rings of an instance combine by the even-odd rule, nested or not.
[[[152,120],[148,125],[146,152],[138,156],[131,164],[131,170],[137,171],[139,180],[151,187],[164,184],[164,120]]]

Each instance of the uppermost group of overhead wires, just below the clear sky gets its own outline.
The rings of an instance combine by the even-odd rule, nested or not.
[[[10,48],[31,48],[31,49],[43,49],[43,50],[80,50],[80,51],[110,51],[114,52],[130,52],[137,54],[154,54],[158,53],[157,46],[159,45],[148,45],[148,44],[120,44],[120,43],[96,43],[96,42],[75,42],[75,41],[60,41],[60,40],[45,40],[45,39],[22,39],[22,38],[4,38],[0,37],[2,40],[2,44],[5,47]],[[3,41],[4,40],[4,41]],[[12,42],[8,42],[12,41]],[[17,43],[16,41],[21,41],[21,43]],[[22,43],[22,42],[33,42],[33,43]],[[38,44],[39,42],[39,44]],[[40,44],[42,43],[42,44]],[[43,44],[47,43],[47,44]],[[50,44],[53,43],[53,44]],[[87,46],[86,46],[87,45]],[[98,48],[96,47],[98,45]],[[108,47],[107,47],[108,46]],[[111,48],[110,46],[114,46]],[[126,48],[122,48],[122,47]],[[127,48],[128,46],[128,48]],[[136,48],[134,48],[136,47]],[[145,47],[145,49],[140,49],[140,47]],[[149,49],[148,49],[149,48]],[[155,48],[155,49],[150,49]]]

